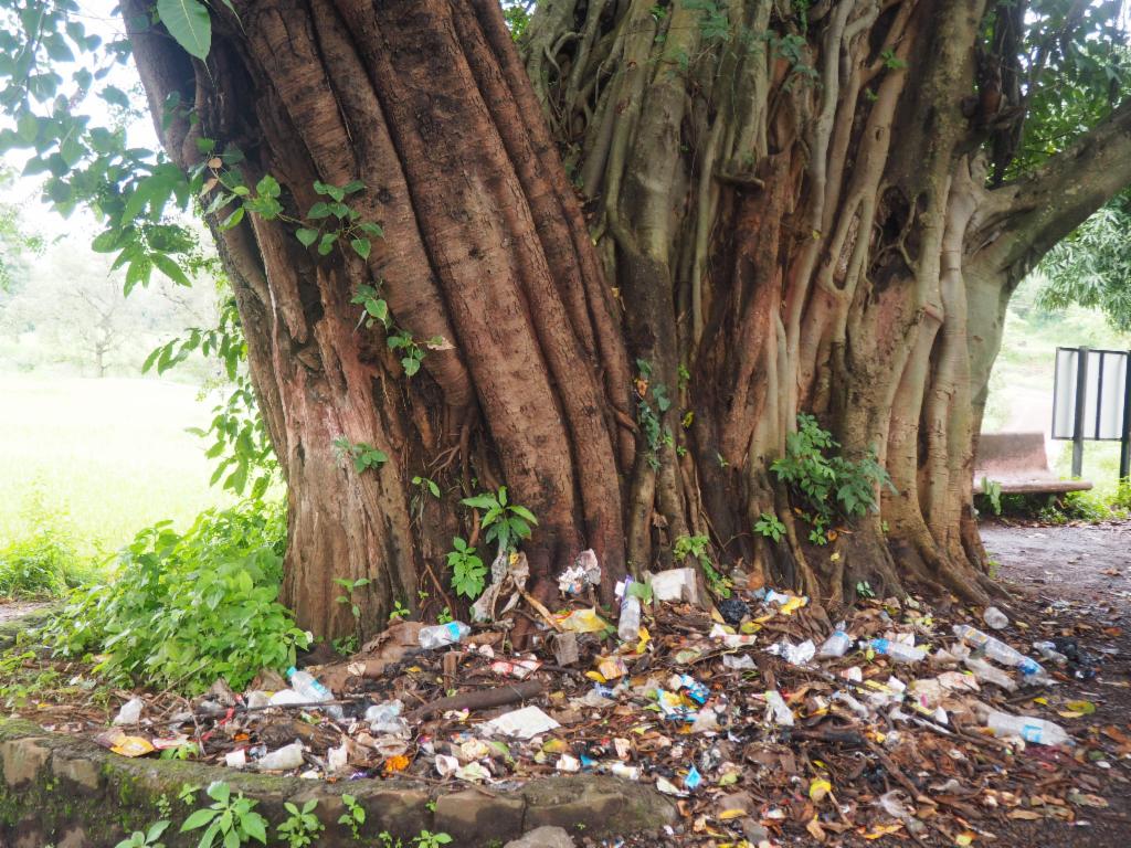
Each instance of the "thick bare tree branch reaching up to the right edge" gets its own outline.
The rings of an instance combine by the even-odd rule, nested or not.
[[[1012,285],[1131,184],[1131,99],[1030,174],[988,192],[967,233],[968,265]]]

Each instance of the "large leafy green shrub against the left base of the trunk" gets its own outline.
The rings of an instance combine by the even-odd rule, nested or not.
[[[57,654],[104,654],[100,670],[197,693],[284,669],[309,635],[277,602],[286,544],[282,504],[245,501],[200,514],[183,535],[146,528],[112,581],[76,591],[44,631]]]

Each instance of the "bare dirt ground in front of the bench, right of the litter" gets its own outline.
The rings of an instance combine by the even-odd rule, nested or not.
[[[1096,712],[1068,719],[1097,738],[1104,728],[1128,730],[1131,722],[1131,522],[1063,527],[998,521],[982,528],[986,550],[1000,563],[1000,578],[1013,594],[1002,608],[1015,621],[1055,623],[1064,635],[1096,656],[1098,674],[1080,684],[1079,696]],[[1102,794],[1111,806],[1089,808],[1073,824],[1012,822],[996,832],[1009,848],[1128,848],[1131,846],[1131,769],[1128,756],[1112,763],[1112,784]],[[1050,778],[1054,772],[1050,770]],[[1085,823],[1086,822],[1086,823]]]

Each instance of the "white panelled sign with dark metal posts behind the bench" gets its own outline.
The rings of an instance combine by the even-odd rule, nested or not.
[[[1126,351],[1057,347],[1053,379],[1053,439],[1073,442],[1072,475],[1083,465],[1083,441],[1119,441],[1120,477],[1131,460],[1131,356]]]

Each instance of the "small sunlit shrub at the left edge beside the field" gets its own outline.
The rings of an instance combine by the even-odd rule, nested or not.
[[[42,495],[33,494],[24,520],[27,535],[0,548],[0,597],[59,597],[94,577],[94,566],[76,551],[64,512],[49,510]]]

